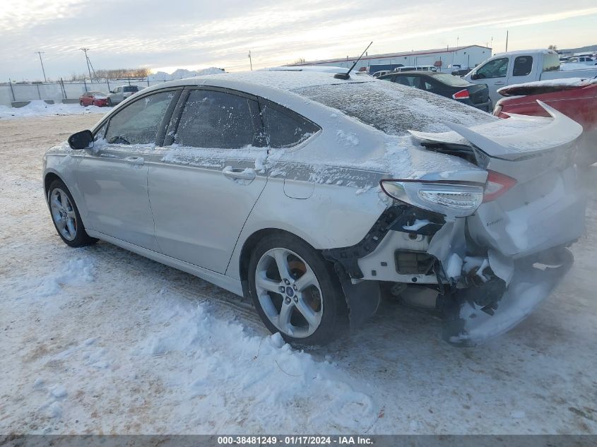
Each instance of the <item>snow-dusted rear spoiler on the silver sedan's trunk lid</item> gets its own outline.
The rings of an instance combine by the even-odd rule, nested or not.
[[[545,150],[572,143],[581,135],[583,129],[580,124],[544,102],[539,100],[537,102],[550,114],[552,119],[509,114],[511,117],[509,119],[501,119],[470,128],[460,124],[446,123],[446,126],[452,129],[450,132],[409,132],[418,140],[426,143],[466,145],[468,142],[489,157],[503,160],[516,160],[520,157],[536,155]],[[512,133],[513,126],[510,124],[514,124],[514,122],[511,120],[515,121],[516,126],[514,127],[518,128],[516,133]],[[549,121],[548,124],[543,124],[546,120]],[[528,126],[524,125],[525,122],[528,123]]]

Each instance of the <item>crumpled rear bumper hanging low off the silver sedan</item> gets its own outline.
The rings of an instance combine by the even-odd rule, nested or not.
[[[514,275],[505,292],[505,283],[500,289],[495,282],[487,282],[458,289],[446,297],[442,338],[451,345],[475,346],[523,321],[550,295],[574,262],[572,254],[563,247],[549,251],[552,266],[539,264],[545,261],[542,255],[545,252],[514,261]],[[488,309],[491,294],[495,294],[495,305]]]

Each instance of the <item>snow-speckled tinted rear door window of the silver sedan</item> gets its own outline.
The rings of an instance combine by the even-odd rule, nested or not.
[[[253,145],[256,129],[249,101],[230,93],[192,90],[182,109],[175,143],[220,149]]]

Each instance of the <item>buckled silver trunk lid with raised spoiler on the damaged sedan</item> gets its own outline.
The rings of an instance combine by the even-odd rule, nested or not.
[[[468,146],[477,165],[516,180],[467,217],[476,244],[511,258],[569,244],[584,233],[585,198],[574,166],[582,127],[540,105],[551,119],[511,115],[471,128],[448,124],[451,132],[411,132],[423,144]]]

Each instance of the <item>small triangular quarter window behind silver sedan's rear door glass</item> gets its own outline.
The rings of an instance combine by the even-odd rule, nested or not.
[[[305,141],[319,127],[296,114],[286,114],[270,105],[261,104],[266,138],[271,148],[289,148]]]

